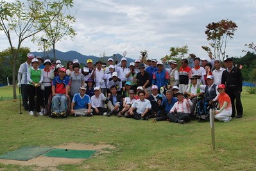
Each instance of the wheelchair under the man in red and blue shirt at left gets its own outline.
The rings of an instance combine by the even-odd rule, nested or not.
[[[65,114],[59,114],[57,113],[57,115],[55,115],[53,113],[53,96],[52,94],[49,95],[49,99],[48,99],[48,103],[47,103],[47,112],[46,114],[49,116],[49,117],[63,117],[63,118],[66,118],[69,113],[70,113],[70,106],[71,106],[71,101],[70,101],[70,97],[67,99],[67,103],[65,104]]]

